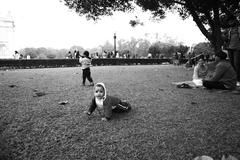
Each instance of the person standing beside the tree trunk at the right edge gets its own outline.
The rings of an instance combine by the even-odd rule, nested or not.
[[[227,19],[230,30],[228,32],[228,55],[237,74],[237,85],[240,86],[240,25],[235,16]]]

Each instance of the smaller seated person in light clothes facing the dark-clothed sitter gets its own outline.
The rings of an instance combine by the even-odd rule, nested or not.
[[[208,67],[203,58],[198,60],[197,65],[194,67],[193,80],[202,80],[208,74]]]

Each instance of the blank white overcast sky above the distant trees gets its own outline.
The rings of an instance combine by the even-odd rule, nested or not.
[[[192,21],[181,20],[169,13],[160,22],[149,21],[149,14],[137,11],[132,14],[118,13],[104,17],[98,22],[87,21],[70,11],[59,0],[0,0],[0,13],[11,12],[15,22],[15,48],[50,47],[69,49],[73,45],[86,48],[97,47],[106,41],[117,39],[147,38],[166,41],[169,37],[185,45],[205,41],[198,27]],[[131,27],[129,21],[135,16],[144,22],[143,26]]]

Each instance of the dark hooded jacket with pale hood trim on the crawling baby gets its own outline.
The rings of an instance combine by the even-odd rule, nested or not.
[[[101,85],[104,88],[104,96],[102,99],[103,107],[99,107],[96,103],[96,97],[93,97],[88,111],[92,113],[95,109],[97,109],[102,117],[110,119],[112,116],[112,109],[117,106],[121,100],[117,97],[107,95],[107,90],[104,83],[97,83],[96,85]]]

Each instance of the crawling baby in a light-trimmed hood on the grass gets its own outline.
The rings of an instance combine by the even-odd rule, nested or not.
[[[112,112],[128,112],[131,110],[131,106],[128,102],[121,101],[118,97],[107,95],[104,83],[97,83],[94,87],[94,97],[90,107],[84,113],[90,116],[95,109],[98,110],[102,121],[107,121],[112,118]]]

